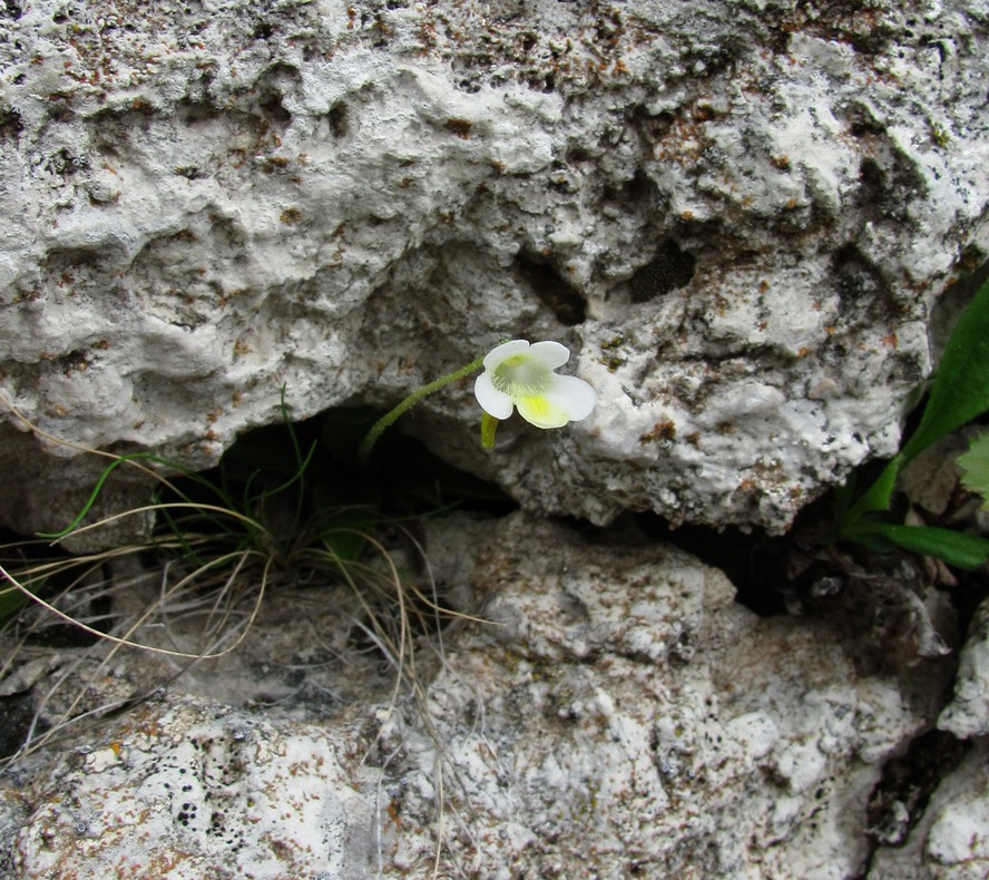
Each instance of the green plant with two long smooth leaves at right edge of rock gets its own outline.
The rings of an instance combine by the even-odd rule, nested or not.
[[[972,569],[989,559],[989,540],[953,529],[891,522],[889,512],[897,477],[903,467],[942,437],[989,411],[989,282],[958,320],[931,380],[917,429],[878,479],[861,495],[850,480],[835,493],[835,528],[831,538],[856,541],[877,550],[900,547]],[[969,453],[969,465],[986,477],[982,451]],[[980,463],[981,462],[981,463]],[[963,465],[964,466],[964,465]]]

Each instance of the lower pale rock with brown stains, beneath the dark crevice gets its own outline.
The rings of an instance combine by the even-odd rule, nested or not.
[[[27,759],[0,864],[97,878],[167,852],[176,878],[432,877],[441,841],[442,877],[862,876],[899,818],[872,792],[933,725],[943,661],[870,669],[848,628],[760,619],[679,550],[525,515],[435,521],[427,545],[487,623],[420,643],[418,701],[392,708],[339,597],[273,591],[225,667]],[[146,692],[151,659],[90,666],[87,700]],[[951,783],[927,850],[877,876],[963,858],[950,811],[982,822],[985,779]]]

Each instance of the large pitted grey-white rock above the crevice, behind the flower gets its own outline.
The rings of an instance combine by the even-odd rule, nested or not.
[[[203,467],[283,384],[385,407],[558,339],[590,419],[486,457],[463,383],[410,430],[533,511],[784,528],[895,449],[989,250],[986,37],[973,0],[8,3],[0,388]],[[3,518],[62,525],[90,480],[30,460],[77,451],[10,422]]]

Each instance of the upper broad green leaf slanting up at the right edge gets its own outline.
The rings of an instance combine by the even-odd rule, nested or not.
[[[920,424],[900,450],[903,462],[989,410],[989,281],[951,331]]]

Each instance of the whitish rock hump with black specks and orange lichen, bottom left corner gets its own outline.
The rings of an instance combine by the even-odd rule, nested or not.
[[[373,801],[324,732],[186,698],[145,705],[109,733],[32,785],[37,806],[8,838],[11,876],[370,873]]]

